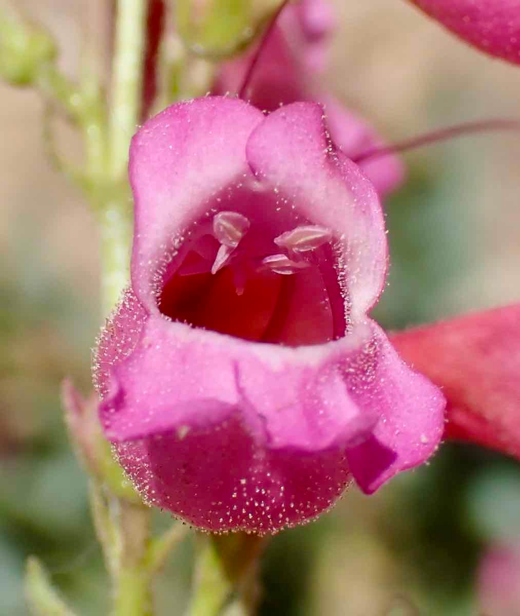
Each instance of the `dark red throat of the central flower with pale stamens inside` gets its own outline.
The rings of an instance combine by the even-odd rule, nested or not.
[[[237,197],[217,198],[220,207],[184,233],[165,275],[161,312],[257,342],[299,346],[343,336],[346,301],[330,230],[277,193],[242,190]]]

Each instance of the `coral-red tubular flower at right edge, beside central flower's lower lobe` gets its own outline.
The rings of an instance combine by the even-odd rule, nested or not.
[[[392,336],[442,387],[446,435],[520,458],[520,304]]]

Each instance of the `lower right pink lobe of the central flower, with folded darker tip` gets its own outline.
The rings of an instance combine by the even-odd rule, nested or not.
[[[428,460],[441,440],[445,407],[441,391],[402,362],[375,323],[371,344],[376,360],[358,403],[366,396],[380,419],[370,439],[347,451],[354,479],[367,493]]]

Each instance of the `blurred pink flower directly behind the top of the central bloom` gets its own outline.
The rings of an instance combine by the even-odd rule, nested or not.
[[[321,103],[335,144],[349,158],[356,158],[384,142],[364,120],[316,83],[326,65],[333,25],[327,0],[299,0],[286,6],[262,43],[258,64],[243,94],[255,107],[266,111],[301,100]],[[255,52],[225,62],[213,93],[238,92]],[[404,178],[404,166],[394,155],[373,158],[360,166],[381,196],[395,190]]]

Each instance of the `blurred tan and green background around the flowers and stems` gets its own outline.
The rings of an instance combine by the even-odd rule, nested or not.
[[[16,4],[52,30],[75,74],[87,2]],[[336,13],[330,89],[386,139],[518,115],[520,68],[466,47],[406,2],[336,0]],[[94,616],[108,590],[59,386],[70,375],[91,387],[97,230],[46,158],[41,111],[34,92],[0,84],[0,614],[25,616],[23,566],[34,553]],[[76,156],[73,137],[62,140]],[[408,180],[386,203],[392,267],[378,320],[398,329],[518,301],[520,137],[465,137],[405,161]],[[377,495],[352,488],[319,522],[275,537],[261,614],[473,616],[482,555],[518,537],[520,465],[447,444]],[[160,614],[182,613],[191,549],[187,540],[171,559]]]

